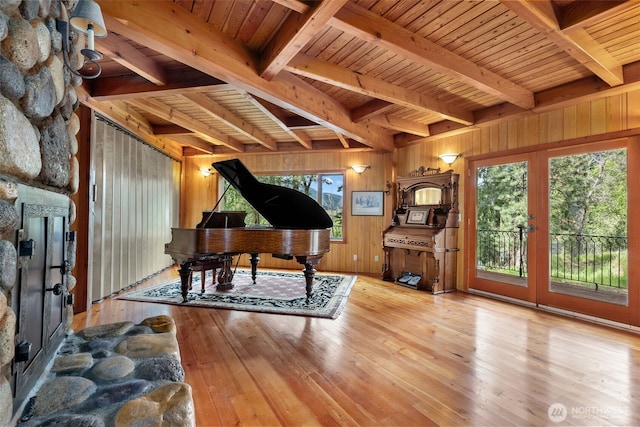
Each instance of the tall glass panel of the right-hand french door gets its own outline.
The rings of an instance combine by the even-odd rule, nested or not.
[[[547,167],[548,282],[541,303],[612,319],[620,313],[625,318],[627,149],[552,152]]]

